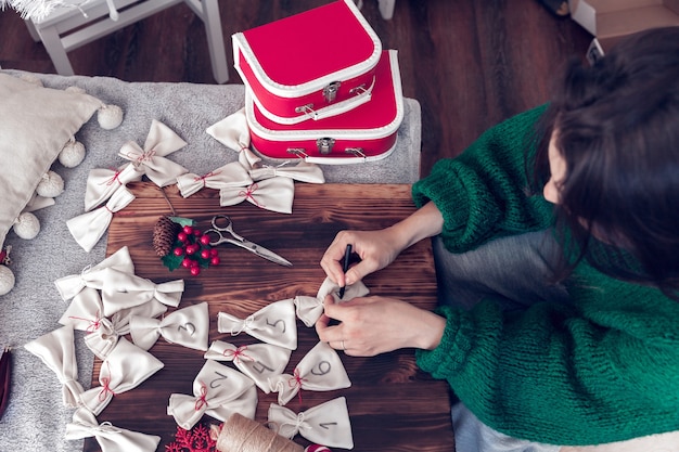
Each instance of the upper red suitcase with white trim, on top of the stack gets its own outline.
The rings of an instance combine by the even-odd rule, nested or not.
[[[370,101],[380,38],[353,0],[232,36],[233,62],[264,116],[297,124]]]

